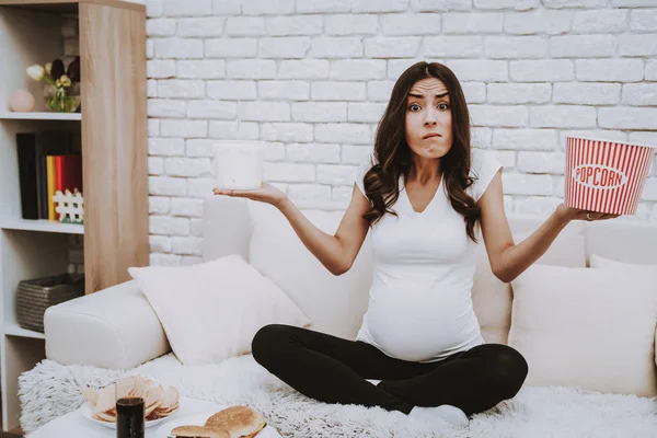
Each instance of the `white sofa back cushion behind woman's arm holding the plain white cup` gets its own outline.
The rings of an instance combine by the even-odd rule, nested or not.
[[[287,218],[267,204],[250,203],[253,234],[250,263],[270,278],[312,321],[315,331],[355,339],[372,280],[369,233],[351,268],[331,274],[308,249]],[[344,210],[304,209],[320,230],[335,233]]]

